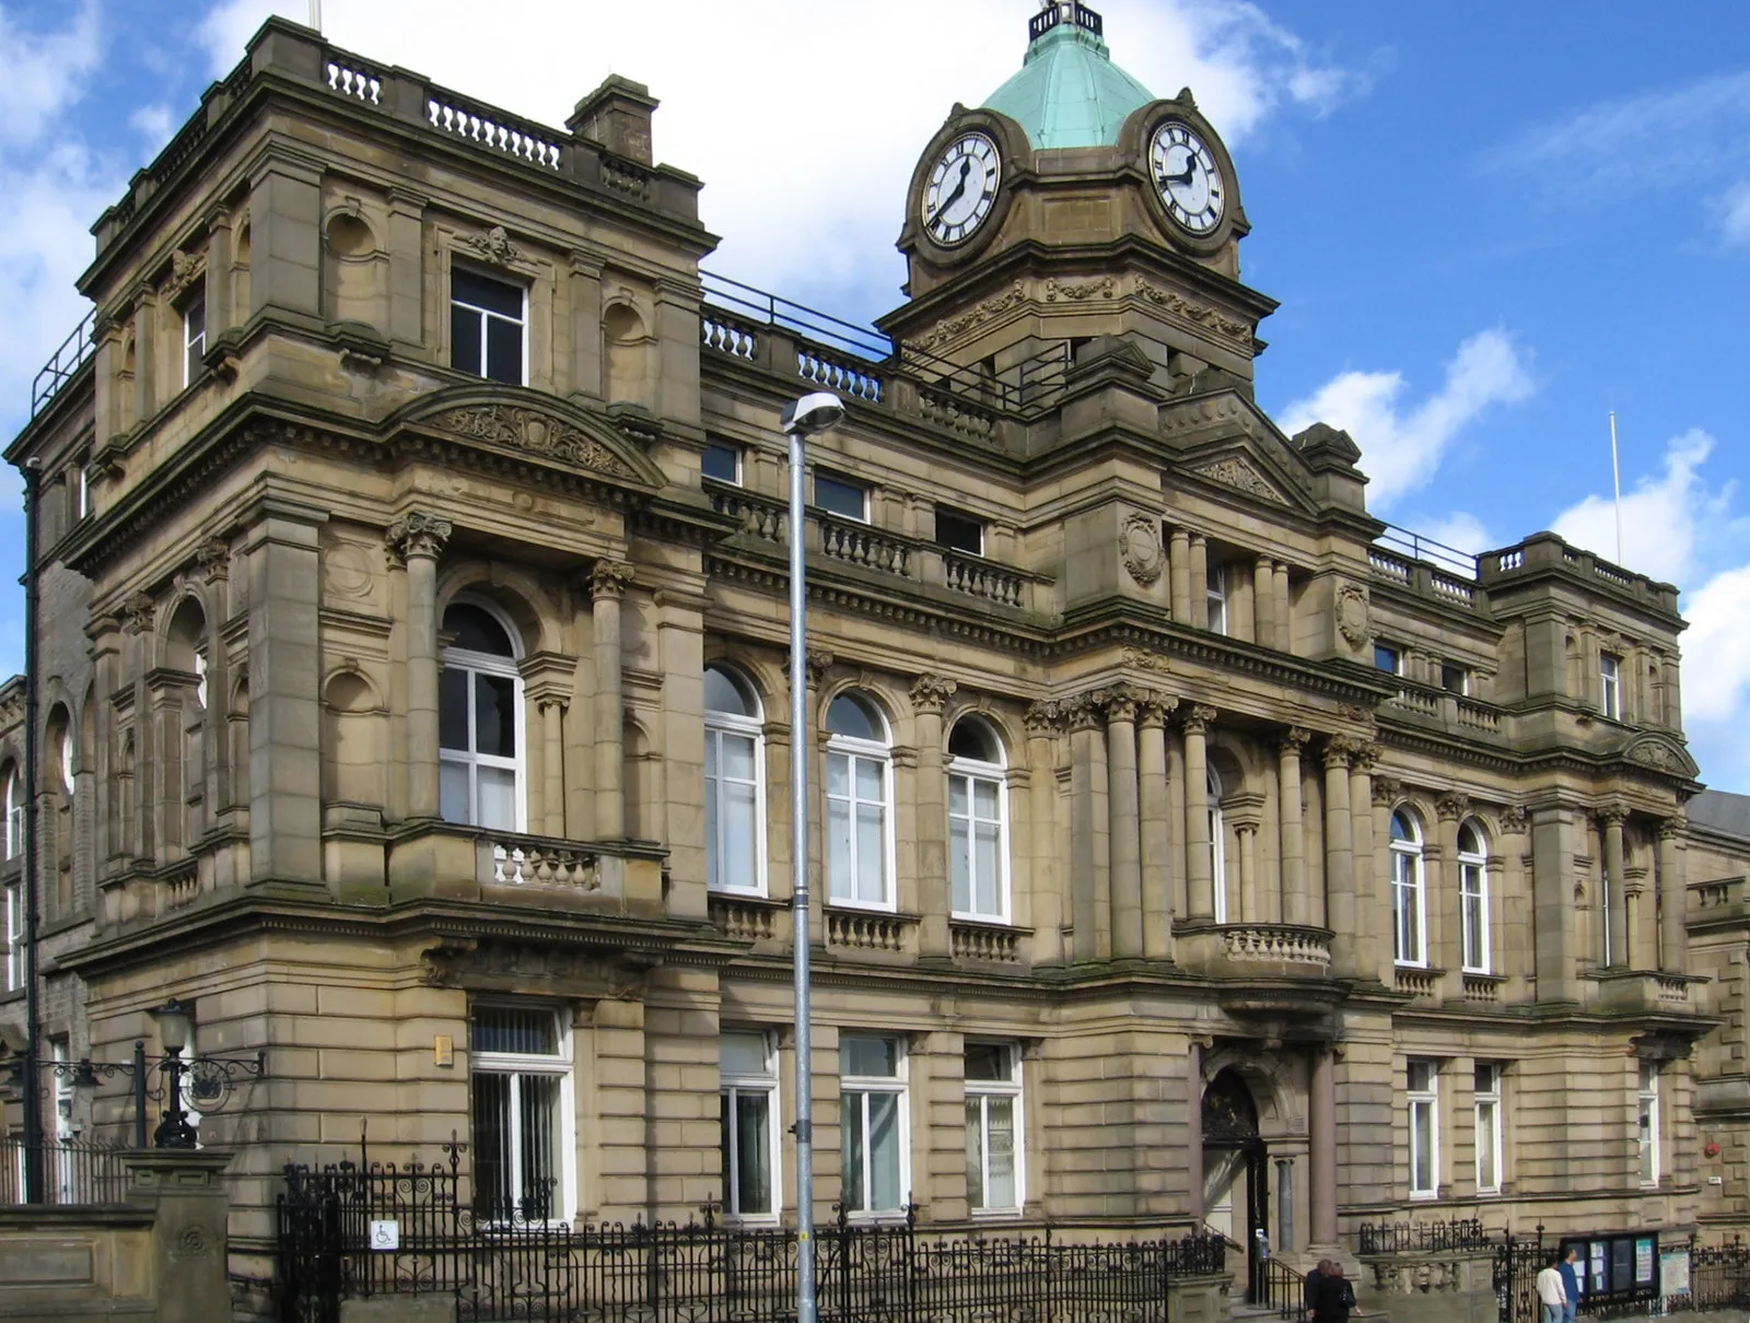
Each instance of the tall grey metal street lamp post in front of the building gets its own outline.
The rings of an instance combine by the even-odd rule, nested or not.
[[[838,396],[817,390],[784,406],[789,434],[789,945],[796,985],[796,1323],[816,1323],[814,1302],[814,1043],[808,1027],[808,604],[803,562],[802,444],[845,416]]]

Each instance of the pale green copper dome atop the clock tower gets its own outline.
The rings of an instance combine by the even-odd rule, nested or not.
[[[1111,147],[1125,116],[1155,100],[1115,63],[1101,16],[1082,4],[1054,4],[1032,16],[1027,60],[985,100],[1040,147]]]

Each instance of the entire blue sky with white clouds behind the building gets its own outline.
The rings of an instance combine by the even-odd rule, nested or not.
[[[1554,527],[1684,588],[1685,716],[1750,791],[1750,19],[1741,2],[1106,0],[1113,58],[1190,86],[1253,233],[1258,397],[1349,427],[1376,513],[1466,550]],[[0,4],[0,425],[77,322],[86,228],[304,0]],[[1026,46],[1029,0],[326,0],[327,35],[551,124],[606,74],[663,98],[710,266],[850,318],[898,299],[910,168]],[[0,514],[10,588],[23,522]],[[21,658],[16,590],[0,667]]]

